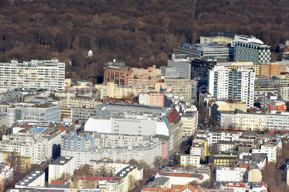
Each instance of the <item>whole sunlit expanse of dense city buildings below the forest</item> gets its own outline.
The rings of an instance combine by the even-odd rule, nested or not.
[[[57,58],[0,63],[0,185],[21,172],[7,191],[268,191],[288,145],[288,56],[229,32],[173,51],[167,66],[109,61],[99,84],[65,79]]]

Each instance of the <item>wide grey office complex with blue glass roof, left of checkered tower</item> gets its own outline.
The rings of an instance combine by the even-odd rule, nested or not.
[[[176,53],[187,54],[194,57],[212,58],[217,62],[229,62],[234,58],[234,47],[227,47],[214,43],[189,44],[181,43],[179,49],[174,49]]]

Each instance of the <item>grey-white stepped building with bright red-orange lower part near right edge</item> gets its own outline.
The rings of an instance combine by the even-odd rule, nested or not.
[[[261,109],[265,112],[268,110],[286,111],[286,101],[278,99],[278,96],[271,93],[263,93]]]

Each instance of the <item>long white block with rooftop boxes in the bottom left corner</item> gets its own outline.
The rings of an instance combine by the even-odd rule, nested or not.
[[[26,187],[45,187],[45,172],[33,171],[15,184],[15,188]]]

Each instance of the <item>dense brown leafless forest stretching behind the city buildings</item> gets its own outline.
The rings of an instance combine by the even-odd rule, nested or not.
[[[288,5],[288,0],[1,0],[0,61],[58,57],[72,62],[67,77],[89,79],[114,58],[134,67],[166,65],[182,41],[195,43],[212,31],[250,34],[275,50],[289,38]],[[89,50],[92,59],[86,57]]]

